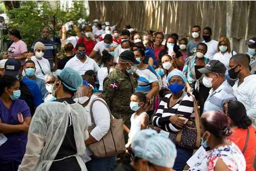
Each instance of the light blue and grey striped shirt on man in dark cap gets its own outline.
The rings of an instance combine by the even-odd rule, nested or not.
[[[204,103],[203,112],[221,110],[227,100],[237,100],[237,98],[233,95],[233,89],[226,80],[215,91],[213,89],[210,90]]]

